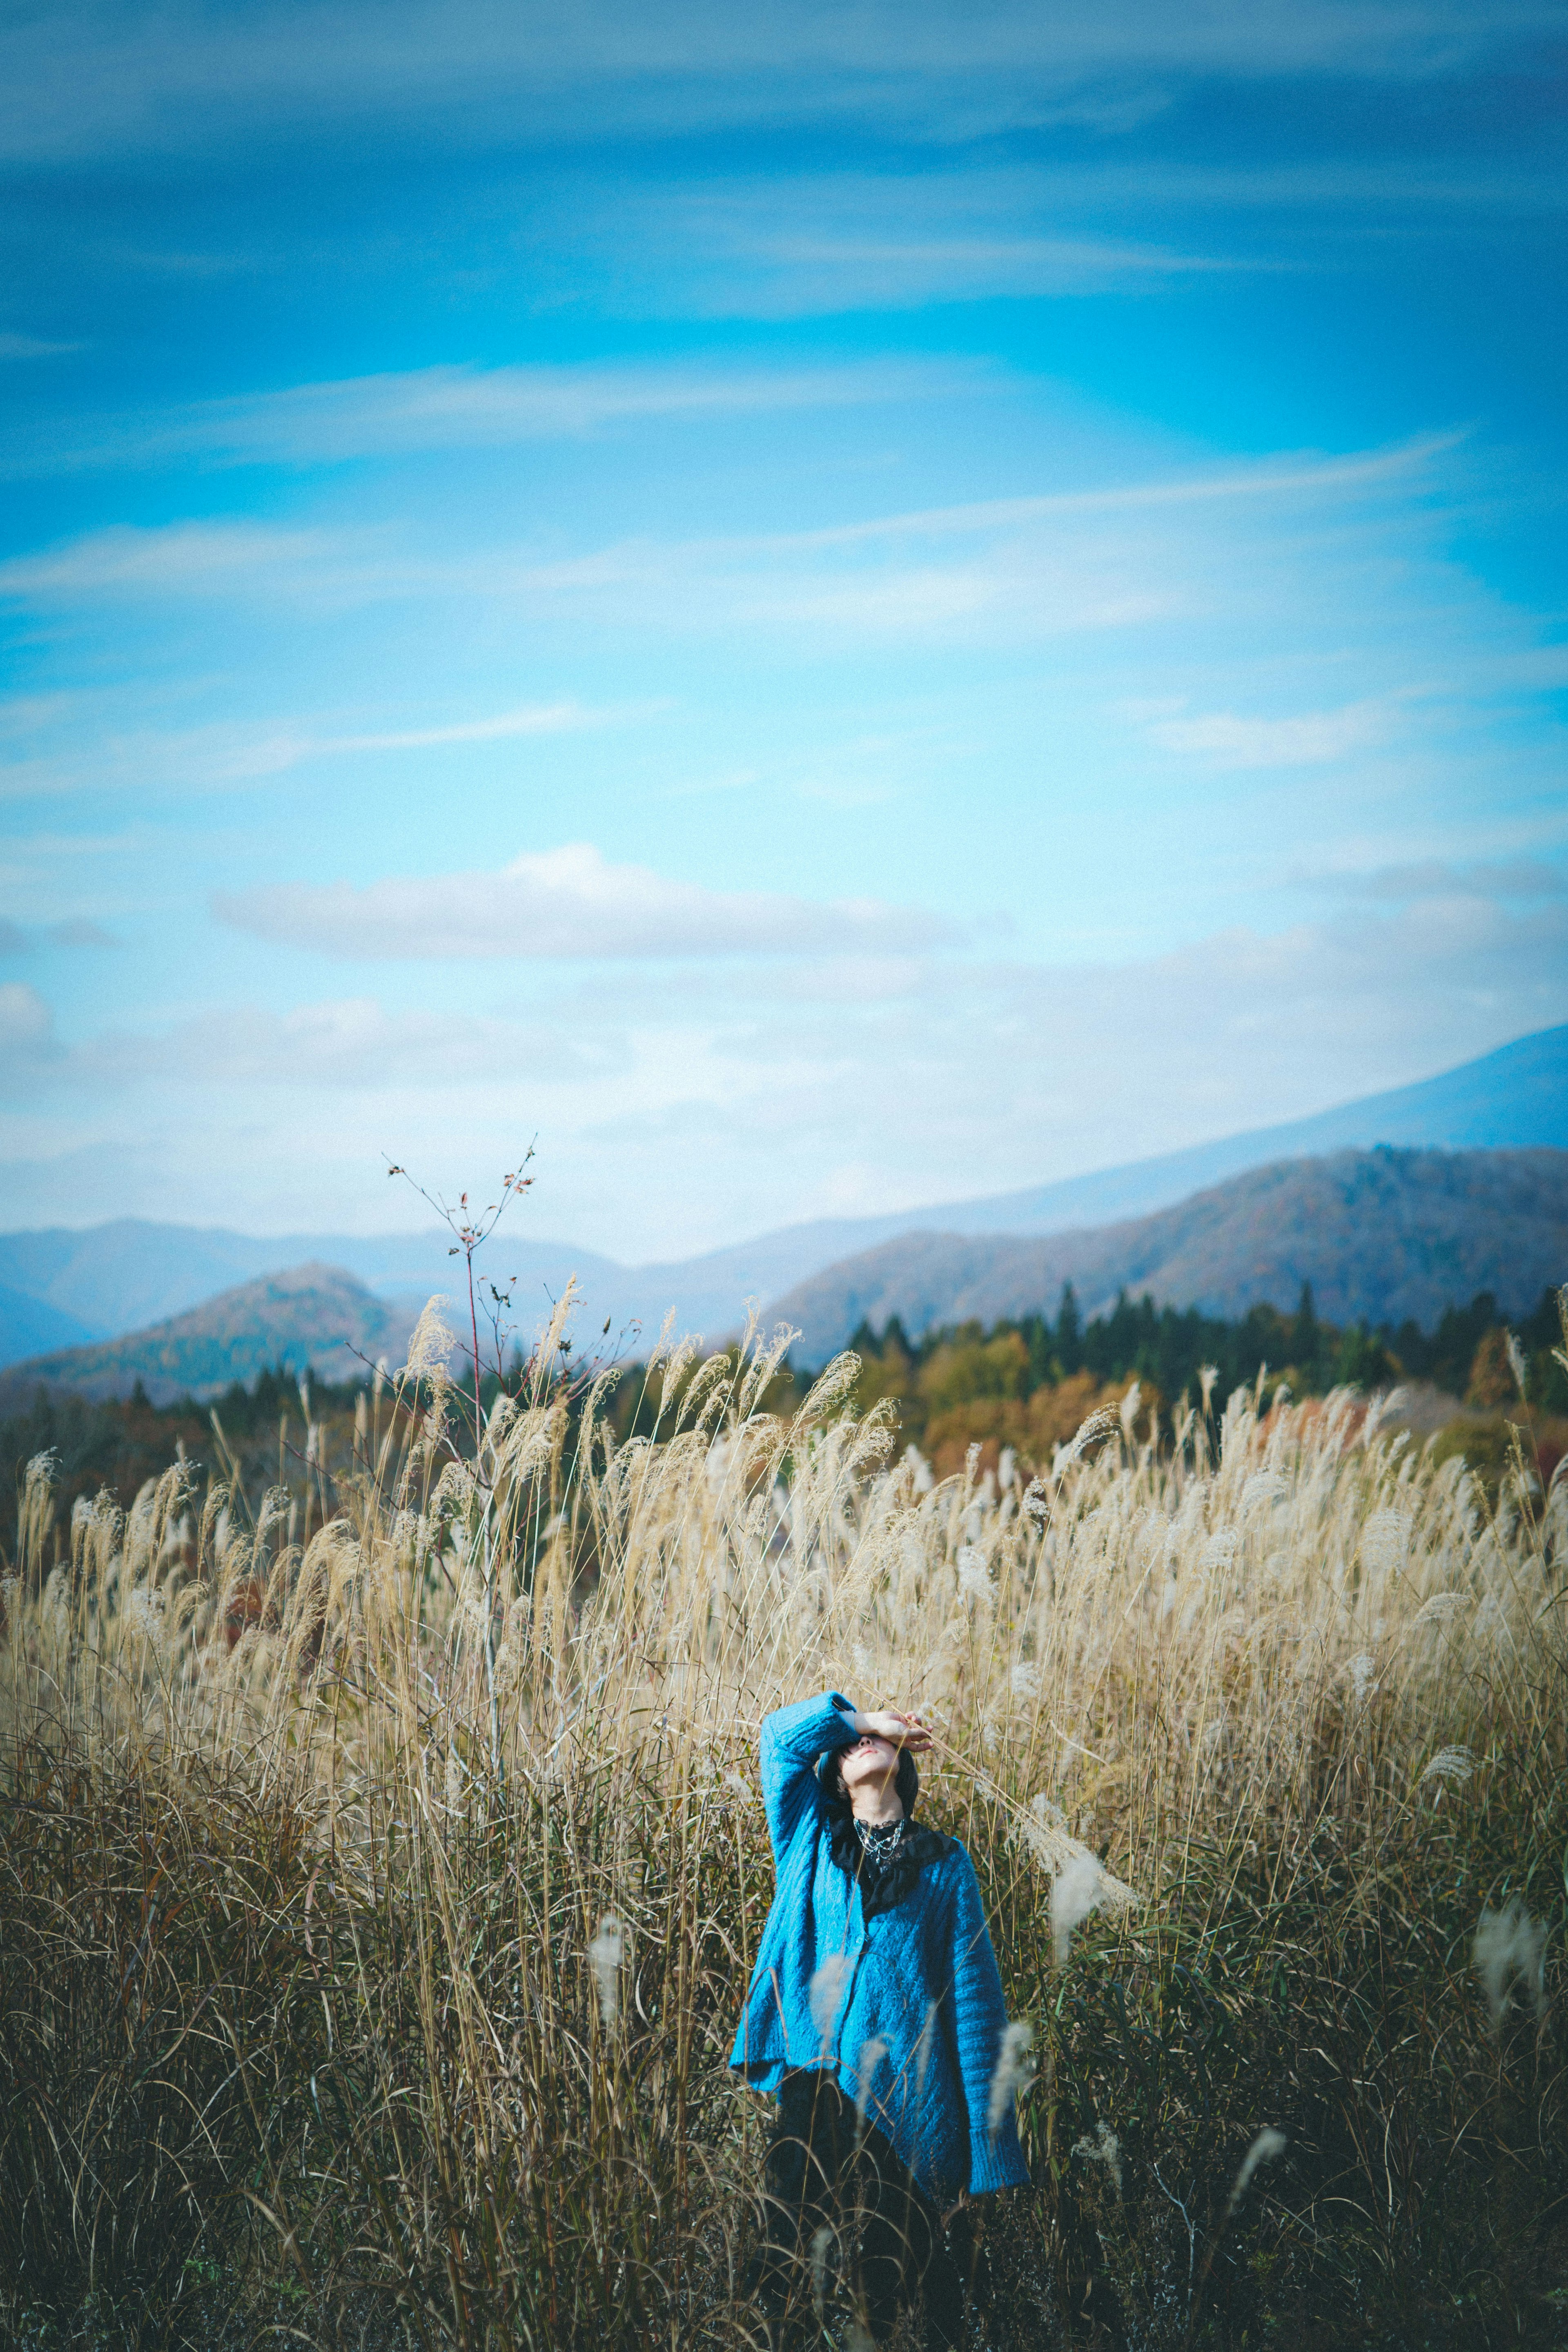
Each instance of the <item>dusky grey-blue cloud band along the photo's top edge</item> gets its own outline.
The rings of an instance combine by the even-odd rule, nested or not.
[[[310,12],[96,5],[14,14],[0,47],[12,89],[0,139],[19,158],[228,146],[247,132],[416,115],[421,141],[780,127],[830,115],[952,139],[1037,129],[1063,113],[1117,120],[1166,82],[1232,73],[1429,78],[1559,28],[1552,7],[1427,0],[1030,0],[724,9],[675,0],[496,9],[484,0],[336,0]],[[1154,94],[1150,94],[1154,80]],[[451,129],[447,129],[451,136]]]

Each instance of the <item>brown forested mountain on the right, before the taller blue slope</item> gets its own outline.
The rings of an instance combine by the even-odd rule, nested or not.
[[[865,1319],[910,1334],[1056,1310],[1072,1282],[1084,1315],[1117,1291],[1241,1315],[1293,1310],[1309,1282],[1328,1322],[1429,1329],[1446,1305],[1493,1291],[1507,1312],[1568,1282],[1568,1150],[1378,1148],[1286,1160],[1194,1192],[1175,1209],[1044,1240],[917,1232],[785,1291],[771,1308],[823,1362]]]

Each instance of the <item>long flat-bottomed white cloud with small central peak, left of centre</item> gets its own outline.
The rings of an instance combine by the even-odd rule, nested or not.
[[[590,842],[524,854],[501,873],[388,882],[282,882],[214,898],[221,922],[322,955],[393,960],[823,955],[929,946],[943,924],[875,898],[816,906],[710,891]]]

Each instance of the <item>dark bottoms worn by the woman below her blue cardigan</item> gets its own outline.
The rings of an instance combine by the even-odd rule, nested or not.
[[[969,2218],[940,2216],[875,2124],[863,2126],[832,2074],[785,2074],[762,2176],[762,2246],[752,2291],[771,2343],[811,2340],[832,2270],[882,2345],[898,2310],[926,2296],[929,2352],[957,2352],[973,2286]]]

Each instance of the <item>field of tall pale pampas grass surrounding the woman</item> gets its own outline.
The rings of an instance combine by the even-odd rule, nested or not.
[[[1566,1479],[1131,1392],[933,1482],[757,1338],[616,1446],[559,1341],[475,1446],[425,1322],[299,1543],[33,1468],[7,2343],[762,2343],[757,1726],[827,1686],[933,1726],[1030,2027],[976,2347],[1568,2343]]]

